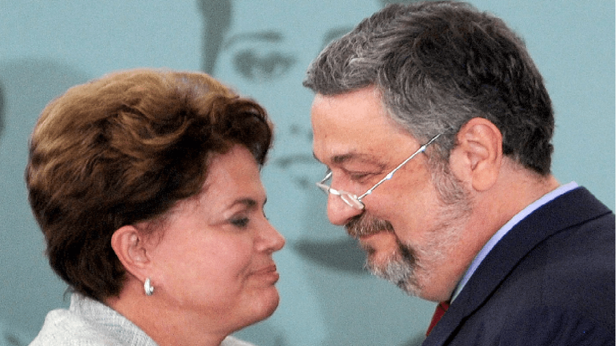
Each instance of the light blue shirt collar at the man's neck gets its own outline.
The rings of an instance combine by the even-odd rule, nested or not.
[[[502,239],[503,236],[505,236],[507,232],[511,230],[511,228],[517,225],[518,222],[524,220],[524,218],[530,215],[533,211],[539,209],[539,207],[543,206],[544,204],[547,204],[549,201],[552,201],[558,196],[564,195],[565,193],[577,187],[577,183],[570,182],[546,193],[545,195],[543,195],[543,197],[537,199],[537,201],[529,204],[529,206],[522,209],[522,211],[517,213],[511,220],[509,220],[509,222],[505,223],[505,225],[503,225],[500,230],[496,231],[492,238],[490,238],[490,240],[485,243],[484,247],[481,249],[481,251],[479,251],[479,254],[477,254],[475,259],[472,260],[471,265],[466,270],[466,273],[464,273],[462,280],[460,281],[460,283],[458,283],[458,286],[456,287],[455,291],[453,291],[452,302],[454,299],[456,299],[456,297],[458,297],[458,294],[460,294],[464,286],[466,286],[466,283],[468,283],[468,280],[470,280],[473,273],[475,273],[475,270],[477,270],[479,264],[481,264],[481,262],[485,259],[485,256],[488,255],[488,253],[492,250],[496,243],[498,243],[498,241],[500,241],[500,239]]]

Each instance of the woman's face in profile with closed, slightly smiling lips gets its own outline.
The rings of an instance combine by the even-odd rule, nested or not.
[[[204,328],[226,332],[274,313],[272,253],[285,239],[264,204],[259,166],[245,147],[211,159],[203,191],[174,207],[150,252],[156,296]]]

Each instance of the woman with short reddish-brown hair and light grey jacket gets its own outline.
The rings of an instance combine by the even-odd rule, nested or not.
[[[31,345],[248,345],[278,305],[259,176],[265,111],[203,73],[130,70],[43,110],[26,167],[51,267],[73,292]]]

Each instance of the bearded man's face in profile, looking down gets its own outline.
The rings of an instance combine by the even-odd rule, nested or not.
[[[314,154],[333,172],[331,187],[356,195],[424,144],[391,121],[373,88],[317,95],[312,127]],[[442,300],[458,279],[452,279],[450,261],[470,204],[466,198],[444,203],[435,184],[459,185],[450,174],[433,174],[421,154],[363,199],[365,211],[335,195],[329,196],[327,210],[331,223],[345,225],[359,238],[373,273],[410,294]]]

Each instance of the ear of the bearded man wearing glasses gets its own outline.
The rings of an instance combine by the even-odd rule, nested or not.
[[[464,124],[450,156],[453,174],[474,190],[485,191],[496,183],[502,164],[503,135],[498,127],[484,118]]]

